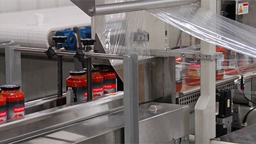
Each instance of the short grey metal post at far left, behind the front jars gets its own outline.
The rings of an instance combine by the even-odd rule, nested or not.
[[[21,85],[21,52],[14,48],[15,46],[5,48],[6,84]]]

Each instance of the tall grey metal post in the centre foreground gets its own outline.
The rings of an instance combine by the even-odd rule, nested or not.
[[[138,55],[123,56],[125,143],[139,143]]]

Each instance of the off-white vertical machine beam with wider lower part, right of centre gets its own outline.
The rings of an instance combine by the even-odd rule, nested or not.
[[[216,13],[216,0],[201,1],[201,7]],[[213,54],[215,45],[201,41],[201,52]],[[201,60],[201,97],[195,106],[196,143],[215,137],[215,60]]]

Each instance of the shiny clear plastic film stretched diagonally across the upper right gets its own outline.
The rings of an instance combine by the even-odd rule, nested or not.
[[[256,58],[256,29],[196,4],[149,10],[158,19],[196,38]]]

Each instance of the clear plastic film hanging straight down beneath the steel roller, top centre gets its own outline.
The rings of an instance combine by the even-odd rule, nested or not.
[[[121,3],[126,0],[109,0],[102,3]],[[145,28],[144,15],[147,12],[117,13],[94,17],[93,33],[96,33],[107,54],[139,54],[139,60],[147,57],[149,42]],[[139,50],[139,51],[138,51]],[[111,60],[113,66],[119,65],[120,60]]]

